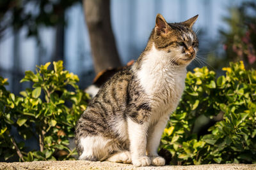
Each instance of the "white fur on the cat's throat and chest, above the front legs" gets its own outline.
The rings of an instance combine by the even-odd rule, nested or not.
[[[171,113],[179,103],[184,90],[186,66],[175,66],[171,62],[181,56],[180,49],[167,53],[157,50],[154,44],[144,56],[145,59],[137,76],[140,85],[150,96],[153,110],[158,113],[166,111]]]

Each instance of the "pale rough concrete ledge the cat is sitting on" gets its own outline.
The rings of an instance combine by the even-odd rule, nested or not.
[[[256,164],[208,164],[200,166],[148,166],[134,167],[131,164],[91,162],[87,160],[0,162],[0,169],[172,169],[172,170],[256,170]]]

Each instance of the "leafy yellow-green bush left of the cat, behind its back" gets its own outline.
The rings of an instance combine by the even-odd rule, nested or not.
[[[6,80],[0,79],[0,156],[7,160],[17,153],[23,161],[74,159],[76,150],[68,148],[68,138],[74,137],[79,115],[86,109],[87,95],[79,90],[79,78],[63,70],[63,62],[38,66],[36,74],[26,71],[21,80],[33,83],[33,89],[19,96],[6,91]],[[70,107],[68,107],[70,106]],[[35,136],[39,151],[25,152],[24,143],[10,135],[15,127],[22,139]]]

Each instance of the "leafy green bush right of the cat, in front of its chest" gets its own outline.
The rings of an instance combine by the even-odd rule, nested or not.
[[[256,163],[256,71],[246,71],[243,62],[223,70],[226,76],[217,79],[207,67],[188,72],[161,140],[172,153],[170,164]],[[208,134],[198,136],[198,119],[217,117]]]

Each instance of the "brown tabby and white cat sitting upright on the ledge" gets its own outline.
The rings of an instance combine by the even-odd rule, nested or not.
[[[168,24],[157,14],[138,60],[104,83],[77,120],[79,160],[164,166],[157,148],[198,51],[192,30],[197,18]]]

